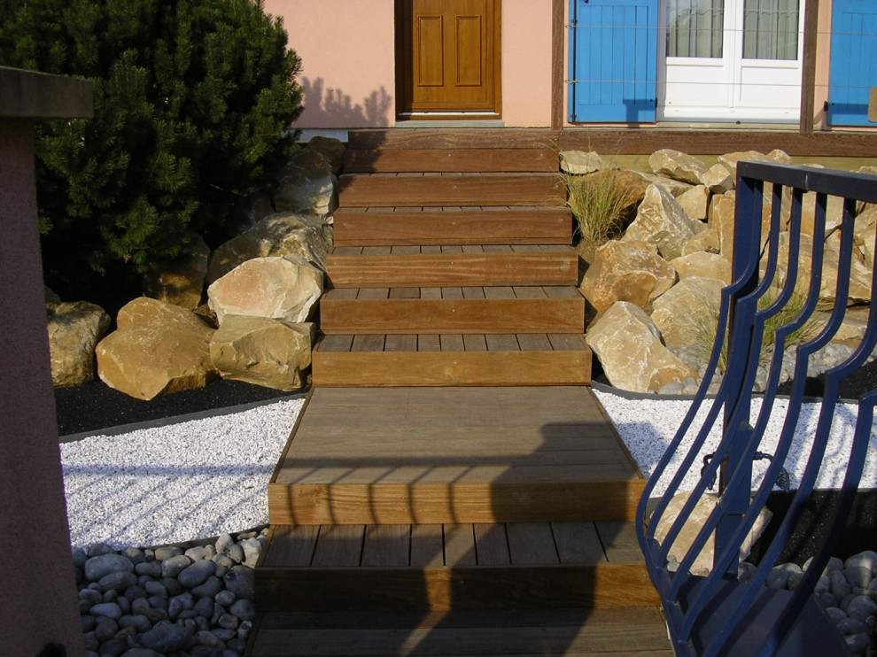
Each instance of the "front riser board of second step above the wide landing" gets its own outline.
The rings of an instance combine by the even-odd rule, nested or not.
[[[584,298],[323,298],[320,313],[327,335],[585,332]]]

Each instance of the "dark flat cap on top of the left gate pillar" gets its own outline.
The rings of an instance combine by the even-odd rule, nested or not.
[[[0,117],[89,119],[92,116],[94,102],[88,80],[0,66]]]

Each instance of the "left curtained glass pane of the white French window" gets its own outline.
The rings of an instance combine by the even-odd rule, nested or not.
[[[725,0],[668,0],[667,57],[722,57]]]

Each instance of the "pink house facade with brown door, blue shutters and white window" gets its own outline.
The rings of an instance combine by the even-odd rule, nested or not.
[[[877,127],[873,0],[266,0],[299,128]]]

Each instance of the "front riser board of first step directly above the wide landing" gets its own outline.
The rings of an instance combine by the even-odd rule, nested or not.
[[[314,352],[314,385],[587,385],[590,352]]]

